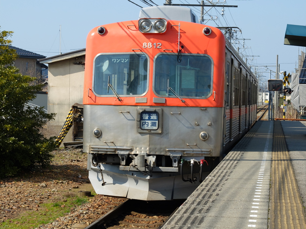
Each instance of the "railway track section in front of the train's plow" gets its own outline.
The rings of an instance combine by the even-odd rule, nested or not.
[[[184,200],[152,201],[127,199],[85,229],[158,229]]]

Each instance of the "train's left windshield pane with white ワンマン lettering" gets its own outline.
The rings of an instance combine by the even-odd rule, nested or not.
[[[94,92],[101,96],[142,95],[147,90],[148,58],[144,54],[102,54],[94,61]]]

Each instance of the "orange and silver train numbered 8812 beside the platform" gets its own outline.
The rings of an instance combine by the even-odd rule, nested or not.
[[[256,77],[189,8],[93,28],[85,63],[83,152],[97,194],[186,199],[256,122]]]

